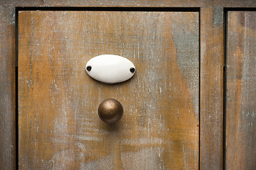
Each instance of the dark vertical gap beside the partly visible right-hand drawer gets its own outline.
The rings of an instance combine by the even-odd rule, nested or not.
[[[225,170],[226,162],[226,98],[227,98],[227,42],[228,42],[228,10],[223,10],[223,51],[224,51],[224,67],[223,67],[223,170]]]

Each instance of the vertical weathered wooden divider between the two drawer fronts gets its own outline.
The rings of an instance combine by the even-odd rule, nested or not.
[[[200,169],[223,169],[223,66],[223,8],[203,8]]]

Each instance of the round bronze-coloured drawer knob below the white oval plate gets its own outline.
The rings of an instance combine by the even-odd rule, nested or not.
[[[98,114],[105,123],[117,123],[122,118],[124,109],[119,101],[108,98],[100,103]]]

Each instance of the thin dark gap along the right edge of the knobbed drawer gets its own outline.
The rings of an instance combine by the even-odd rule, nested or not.
[[[198,169],[200,169],[200,152],[201,152],[201,8],[199,8],[199,29],[198,29],[198,31],[199,31],[199,52],[198,52],[198,55],[199,55],[199,61],[198,61],[198,67],[199,67],[199,97],[198,97],[198,101],[199,101],[199,103],[198,103],[198,107],[199,107],[199,109],[198,109],[198,111],[199,111],[199,135],[198,135],[198,137],[199,137],[199,144],[198,144]]]

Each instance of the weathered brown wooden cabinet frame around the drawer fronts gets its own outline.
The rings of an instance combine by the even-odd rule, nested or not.
[[[112,6],[129,6],[129,7],[200,7],[201,8],[201,141],[200,141],[200,168],[201,169],[222,169],[217,168],[222,164],[222,139],[219,139],[222,129],[218,125],[222,125],[222,87],[220,82],[223,81],[222,67],[214,67],[220,58],[223,58],[223,43],[219,43],[220,27],[223,23],[216,26],[215,18],[223,15],[223,7],[256,7],[253,0],[213,0],[213,1],[176,1],[176,0],[1,0],[0,1],[0,169],[16,169],[16,141],[15,141],[15,8],[17,6],[32,7],[68,7],[68,6],[94,6],[94,7],[112,7]],[[212,24],[211,24],[212,22]],[[204,24],[208,23],[208,24]],[[211,30],[211,31],[208,31]],[[211,35],[218,35],[219,38],[210,38]],[[216,37],[216,36],[214,36]],[[209,54],[210,52],[210,54]],[[222,61],[221,61],[222,62]],[[208,69],[208,65],[213,67]],[[218,63],[221,65],[220,63]],[[212,72],[215,70],[214,72]],[[212,80],[207,77],[213,77],[218,84],[218,88]],[[205,84],[205,86],[204,86]],[[208,117],[208,118],[207,118]],[[221,137],[222,138],[222,137]],[[218,144],[216,144],[218,142]]]

